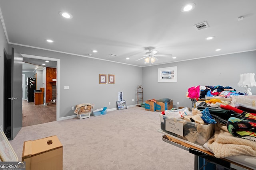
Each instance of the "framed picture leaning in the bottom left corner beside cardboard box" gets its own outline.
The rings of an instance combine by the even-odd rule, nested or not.
[[[0,128],[0,160],[3,162],[15,162],[18,161],[18,156],[14,152],[10,142],[6,135]]]

